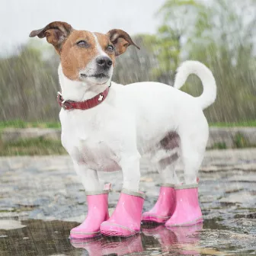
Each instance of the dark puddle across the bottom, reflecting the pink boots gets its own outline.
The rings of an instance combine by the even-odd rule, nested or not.
[[[207,219],[197,226],[165,229],[142,225],[130,238],[69,239],[76,222],[24,220],[24,228],[0,230],[1,256],[252,255],[256,237]]]

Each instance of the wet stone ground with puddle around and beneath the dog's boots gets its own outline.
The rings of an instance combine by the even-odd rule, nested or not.
[[[146,160],[141,169],[149,210],[161,181]],[[69,241],[69,230],[87,211],[69,156],[0,158],[0,175],[0,256],[256,254],[256,149],[206,153],[199,174],[203,225],[142,226],[139,235],[126,239]],[[112,212],[122,174],[101,178],[113,184]]]

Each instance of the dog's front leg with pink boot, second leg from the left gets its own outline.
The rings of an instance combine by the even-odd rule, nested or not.
[[[139,192],[139,152],[122,155],[123,190],[114,213],[101,223],[104,235],[130,236],[140,231],[144,194]]]

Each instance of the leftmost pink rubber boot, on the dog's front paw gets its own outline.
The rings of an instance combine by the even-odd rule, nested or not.
[[[83,239],[101,235],[101,223],[109,219],[107,197],[110,186],[106,184],[104,190],[86,192],[88,215],[81,225],[71,229],[70,238]]]

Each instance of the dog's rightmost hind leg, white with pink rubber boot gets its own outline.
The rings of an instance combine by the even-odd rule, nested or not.
[[[205,123],[200,129],[190,126],[190,130],[181,133],[181,158],[184,164],[184,183],[175,186],[176,206],[173,215],[165,226],[191,226],[203,222],[198,201],[197,173],[203,161],[208,138],[208,127]],[[201,127],[201,128],[202,128]]]

